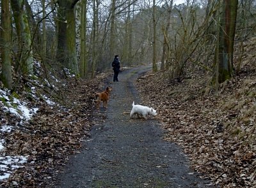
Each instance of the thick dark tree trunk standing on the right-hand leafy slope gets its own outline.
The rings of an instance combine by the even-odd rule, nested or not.
[[[220,37],[217,46],[218,54],[215,62],[218,66],[218,82],[223,83],[233,76],[233,51],[236,29],[236,15],[238,0],[223,0],[223,11],[220,15]]]

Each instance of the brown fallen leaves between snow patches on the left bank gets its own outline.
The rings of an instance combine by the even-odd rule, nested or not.
[[[107,77],[105,74],[88,81],[63,80],[56,89],[58,100],[62,98],[61,104],[65,106],[35,100],[40,108],[28,123],[19,124],[18,118],[2,114],[2,121],[16,125],[4,135],[6,154],[24,155],[27,163],[1,182],[0,187],[47,187],[54,181],[61,166],[67,162],[67,156],[77,153],[82,147],[81,141],[89,136],[90,127],[99,119],[93,117],[92,98],[96,91],[102,89],[102,80]],[[41,90],[40,94],[43,92]],[[24,92],[20,98],[26,98],[26,95]]]

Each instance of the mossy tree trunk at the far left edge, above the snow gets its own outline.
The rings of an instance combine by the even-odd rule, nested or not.
[[[11,48],[12,48],[12,27],[10,5],[8,0],[1,2],[1,60],[2,73],[1,80],[4,87],[12,89],[12,64],[11,64]]]

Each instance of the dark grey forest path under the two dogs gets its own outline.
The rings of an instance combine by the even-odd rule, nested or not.
[[[133,81],[146,71],[125,70],[120,82],[109,83],[113,92],[106,121],[92,128],[81,153],[70,158],[54,187],[209,187],[189,169],[182,150],[163,141],[157,120],[123,114],[131,110],[132,101],[140,103]]]

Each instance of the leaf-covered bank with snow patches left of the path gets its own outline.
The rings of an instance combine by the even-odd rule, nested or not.
[[[68,156],[79,152],[83,139],[90,136],[90,127],[104,120],[104,114],[93,117],[92,99],[95,92],[103,89],[109,73],[88,80],[65,73],[67,77],[61,80],[51,73],[36,72],[15,92],[6,91],[8,97],[1,98],[0,140],[4,141],[4,148],[0,164],[4,168],[0,175],[10,177],[1,178],[0,187],[47,187],[65,166]],[[13,96],[30,107],[36,106],[36,115],[25,121],[4,110],[6,106],[18,108]],[[18,166],[19,156],[24,156],[26,163]]]

